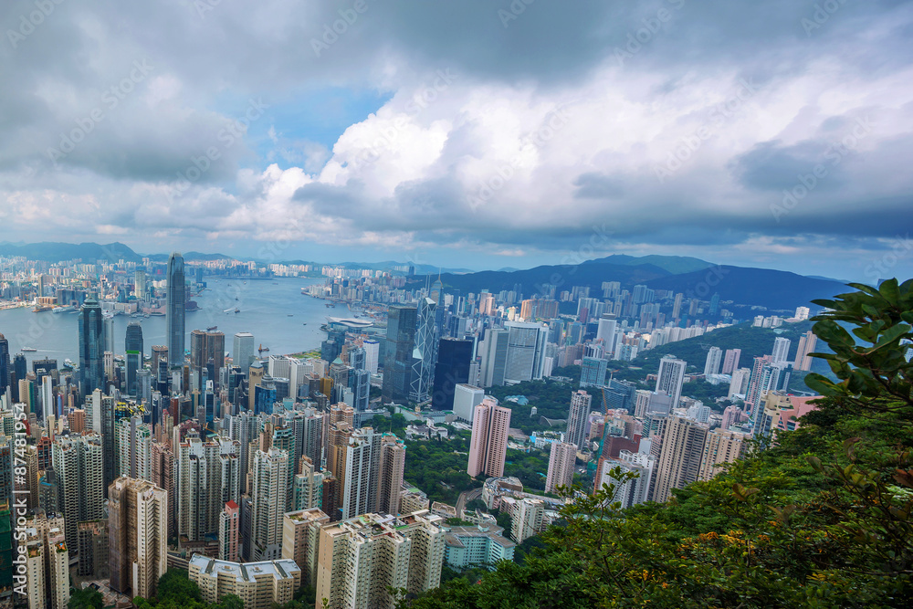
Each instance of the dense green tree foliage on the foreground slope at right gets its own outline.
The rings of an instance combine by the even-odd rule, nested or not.
[[[456,578],[402,605],[432,607],[906,607],[913,593],[913,284],[820,302],[814,331],[837,381],[795,431],[666,504],[620,509],[614,484],[477,583]]]

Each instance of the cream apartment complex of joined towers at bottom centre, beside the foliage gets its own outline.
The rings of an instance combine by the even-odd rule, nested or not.
[[[320,529],[317,605],[394,607],[390,588],[418,594],[440,584],[446,532],[428,512],[362,514]],[[382,566],[383,565],[383,566]]]

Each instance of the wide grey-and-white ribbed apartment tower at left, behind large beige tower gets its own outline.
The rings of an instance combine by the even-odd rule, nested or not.
[[[67,547],[79,548],[77,524],[104,517],[101,436],[59,437],[51,445],[51,464],[58,483],[58,509],[64,517]]]

